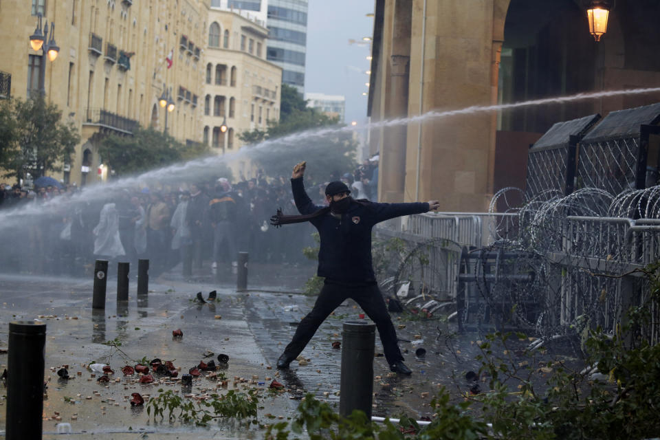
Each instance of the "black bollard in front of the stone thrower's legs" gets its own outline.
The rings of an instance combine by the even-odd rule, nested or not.
[[[339,414],[348,417],[353,410],[362,410],[371,420],[376,326],[363,322],[344,322]]]

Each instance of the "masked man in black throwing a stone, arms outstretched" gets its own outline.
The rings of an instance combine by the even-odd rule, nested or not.
[[[403,362],[394,325],[375,280],[371,265],[371,228],[384,220],[437,210],[438,201],[374,203],[354,200],[346,184],[332,181],[325,189],[329,206],[316,206],[305,192],[304,174],[305,162],[300,162],[291,175],[294,200],[302,215],[283,215],[278,211],[271,223],[279,226],[309,221],[316,227],[321,241],[317,274],[325,278],[325,283],[314,309],[300,321],[294,338],[277,360],[277,368],[289,368],[325,318],[344,300],[352,298],[375,322],[390,371],[412,373]]]

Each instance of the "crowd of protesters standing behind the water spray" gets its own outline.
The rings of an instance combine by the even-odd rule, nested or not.
[[[375,199],[377,162],[365,161],[353,173],[335,171],[320,184],[308,180],[307,192],[325,205],[325,185],[340,179],[355,199]],[[118,187],[110,185],[98,197],[76,197],[80,188],[73,185],[0,184],[0,210],[19,208],[12,217],[25,217],[0,231],[10,250],[0,254],[0,267],[75,276],[95,259],[129,261],[132,267],[138,259],[149,259],[152,274],[181,263],[182,274],[190,278],[204,265],[232,270],[238,252],[249,252],[257,263],[301,263],[303,248],[314,245],[311,225],[274,230],[269,223],[278,208],[297,213],[288,176],[265,177],[260,171],[258,177],[235,182],[213,177]],[[23,214],[23,207],[33,209]]]

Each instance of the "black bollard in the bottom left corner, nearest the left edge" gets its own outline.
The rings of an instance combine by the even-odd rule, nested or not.
[[[6,439],[41,439],[46,325],[9,323]]]

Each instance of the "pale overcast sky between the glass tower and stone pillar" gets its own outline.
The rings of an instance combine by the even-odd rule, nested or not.
[[[305,92],[346,97],[346,122],[366,122],[373,0],[309,0]],[[355,40],[351,44],[349,40]]]

